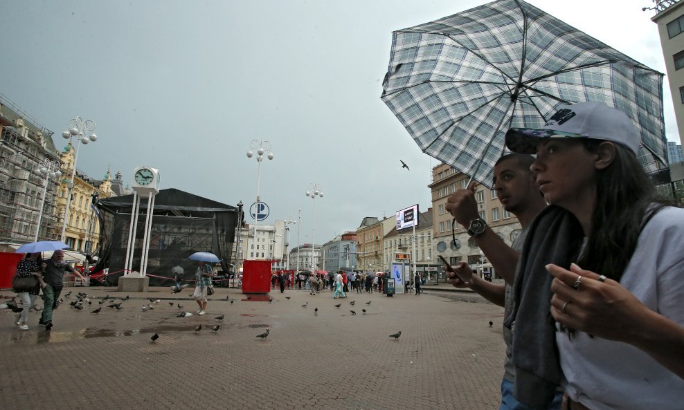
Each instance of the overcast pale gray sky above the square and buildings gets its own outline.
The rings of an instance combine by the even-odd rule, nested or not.
[[[4,1],[0,93],[54,131],[57,147],[71,118],[96,121],[100,140],[78,158],[93,178],[109,165],[128,184],[147,165],[161,171],[162,188],[230,205],[254,202],[257,162],[245,152],[269,140],[265,223],[302,209],[300,242],[311,241],[305,192],[318,183],[323,243],[364,216],[431,205],[437,162],[379,98],[392,31],[484,3]],[[529,3],[665,73],[654,12],[641,10],[651,1]],[[664,95],[667,137],[679,142],[667,84]]]

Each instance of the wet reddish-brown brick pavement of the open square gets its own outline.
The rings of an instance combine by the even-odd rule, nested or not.
[[[179,310],[197,310],[190,291],[130,293],[124,309],[92,315],[101,297],[125,294],[67,290],[98,299],[80,311],[60,306],[51,332],[36,325],[38,313],[30,314],[31,329],[21,331],[9,310],[0,311],[2,409],[498,408],[503,310],[492,304],[429,289],[420,296],[350,293],[341,300],[327,291],[285,290],[268,303],[217,288],[207,315],[178,318]],[[148,298],[161,302],[143,312]],[[222,328],[211,333],[217,323]],[[265,328],[269,337],[256,339]],[[402,337],[395,342],[388,335],[397,330]],[[154,332],[160,338],[152,343]]]

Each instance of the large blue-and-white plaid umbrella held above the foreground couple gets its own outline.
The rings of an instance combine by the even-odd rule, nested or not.
[[[575,102],[627,113],[644,169],[668,167],[663,74],[524,1],[395,31],[381,99],[423,152],[489,188],[507,129],[541,128]]]

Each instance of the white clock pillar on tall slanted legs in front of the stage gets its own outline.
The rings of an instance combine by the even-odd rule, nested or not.
[[[152,231],[152,215],[154,214],[154,198],[159,194],[159,169],[151,167],[137,167],[133,170],[133,204],[131,210],[131,225],[128,230],[128,244],[123,277],[119,278],[118,290],[128,292],[146,292],[150,278],[147,277],[147,256],[150,251],[150,232]],[[145,232],[143,234],[143,249],[140,270],[133,271],[133,256],[136,247],[136,230],[140,203],[147,197],[147,214],[145,216]],[[123,282],[122,282],[123,279]]]

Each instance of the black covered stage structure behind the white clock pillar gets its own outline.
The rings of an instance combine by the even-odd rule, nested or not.
[[[150,201],[140,202],[136,212],[134,195],[106,198],[98,203],[103,227],[96,270],[109,268],[109,283],[118,283],[126,268],[141,266],[143,258],[141,273],[145,272],[151,286],[172,286],[174,266],[183,268],[183,279],[190,283],[195,277],[197,262],[188,257],[202,251],[212,252],[221,259],[217,270],[230,271],[236,207],[179,189],[161,189],[150,206],[150,223],[145,230],[142,216],[147,215],[145,202]],[[129,238],[131,248],[127,247]],[[127,254],[130,249],[136,252]],[[141,254],[141,249],[147,250]]]

